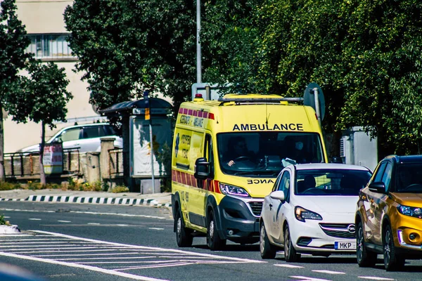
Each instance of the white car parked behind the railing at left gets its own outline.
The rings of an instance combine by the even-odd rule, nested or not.
[[[56,133],[46,143],[62,142],[63,149],[79,148],[79,152],[101,151],[103,137],[115,138],[115,148],[123,148],[123,139],[115,136],[113,126],[108,123],[81,124],[68,126]],[[31,145],[18,152],[39,152],[39,145]]]

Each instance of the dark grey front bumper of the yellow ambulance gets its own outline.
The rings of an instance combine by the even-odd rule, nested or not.
[[[241,244],[258,242],[263,201],[262,198],[224,197],[218,205],[222,226],[220,236]]]

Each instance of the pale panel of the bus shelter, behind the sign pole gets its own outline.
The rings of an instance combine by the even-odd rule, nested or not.
[[[131,175],[151,177],[151,140],[149,120],[131,117]],[[153,168],[154,176],[165,176],[162,155],[171,153],[172,128],[167,118],[153,118]]]

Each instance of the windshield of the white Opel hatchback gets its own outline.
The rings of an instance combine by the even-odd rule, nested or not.
[[[295,195],[357,196],[371,178],[369,171],[350,169],[298,170]]]

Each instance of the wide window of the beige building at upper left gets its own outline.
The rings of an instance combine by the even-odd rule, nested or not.
[[[68,43],[70,34],[28,34],[31,39],[26,53],[34,53],[39,59],[72,58]]]

